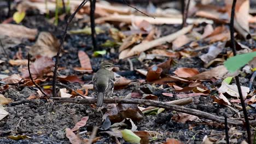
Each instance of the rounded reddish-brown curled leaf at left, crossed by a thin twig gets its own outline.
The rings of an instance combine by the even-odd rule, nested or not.
[[[39,57],[30,65],[30,71],[32,77],[40,77],[51,72],[51,69],[54,67],[53,59],[50,57]],[[22,71],[22,77],[28,78],[28,69]]]

